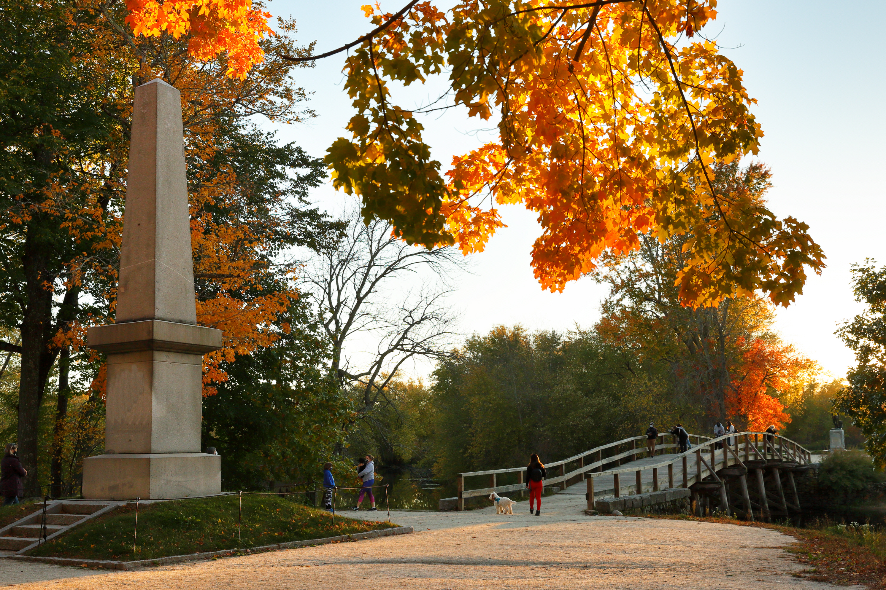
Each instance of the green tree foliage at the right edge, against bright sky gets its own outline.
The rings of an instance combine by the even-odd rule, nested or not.
[[[848,415],[867,439],[867,451],[886,465],[886,268],[865,260],[853,265],[852,292],[865,311],[843,323],[836,334],[855,353],[849,385],[835,400],[835,411]]]

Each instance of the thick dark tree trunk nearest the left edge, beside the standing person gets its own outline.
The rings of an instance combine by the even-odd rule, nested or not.
[[[19,460],[27,470],[25,496],[40,494],[37,470],[37,436],[43,385],[49,375],[46,364],[47,333],[52,321],[52,281],[47,272],[51,246],[28,231],[22,267],[25,271],[24,314],[21,322],[21,377],[19,380]],[[49,283],[49,288],[45,283]]]

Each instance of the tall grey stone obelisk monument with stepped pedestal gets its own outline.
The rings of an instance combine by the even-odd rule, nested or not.
[[[197,325],[179,91],[136,88],[115,323],[89,328],[107,353],[105,454],[83,461],[84,498],[221,492],[221,457],[200,452],[203,354]]]

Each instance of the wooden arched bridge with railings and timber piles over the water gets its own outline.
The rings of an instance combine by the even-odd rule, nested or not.
[[[812,455],[793,440],[754,431],[717,439],[690,434],[692,447],[680,453],[676,437],[658,437],[655,457],[639,436],[546,463],[545,487],[585,494],[588,509],[595,501],[682,488],[699,512],[716,507],[748,520],[771,520],[800,510],[794,473],[808,470]],[[457,508],[463,510],[467,498],[524,490],[525,469],[459,474]]]

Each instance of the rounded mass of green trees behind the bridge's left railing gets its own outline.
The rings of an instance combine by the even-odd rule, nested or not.
[[[439,364],[432,387],[435,472],[563,458],[681,419],[664,378],[596,331],[499,327]]]

